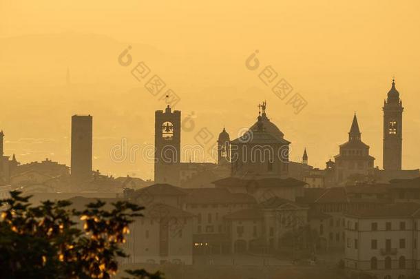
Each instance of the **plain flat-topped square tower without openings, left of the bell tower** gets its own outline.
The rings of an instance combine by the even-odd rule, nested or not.
[[[72,183],[92,179],[92,116],[72,116]]]

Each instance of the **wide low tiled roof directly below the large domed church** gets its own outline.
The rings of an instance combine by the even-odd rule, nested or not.
[[[241,179],[236,177],[222,178],[213,182],[216,186],[227,187],[302,187],[308,183],[295,178],[255,178]]]

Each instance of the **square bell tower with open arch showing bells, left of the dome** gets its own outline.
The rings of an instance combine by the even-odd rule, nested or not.
[[[155,112],[155,183],[179,186],[181,112],[167,106]]]

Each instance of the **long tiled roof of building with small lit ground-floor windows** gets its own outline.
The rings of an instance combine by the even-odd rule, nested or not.
[[[224,203],[256,203],[249,194],[231,193],[226,188],[192,188],[184,189],[188,193],[187,204],[224,204]]]

